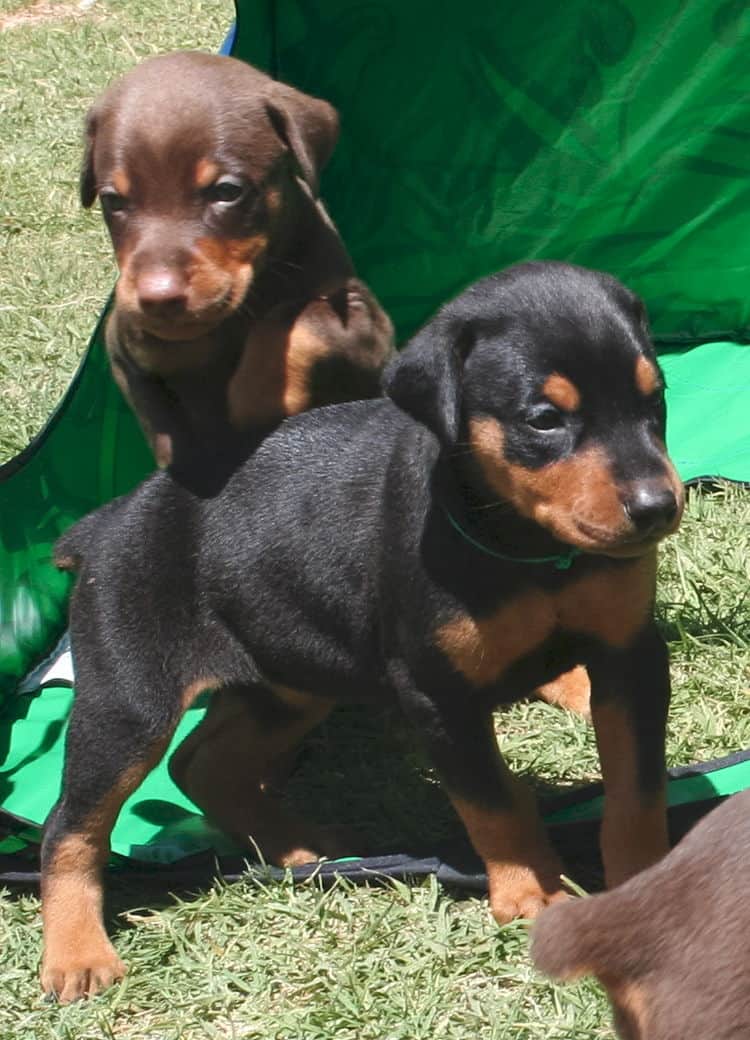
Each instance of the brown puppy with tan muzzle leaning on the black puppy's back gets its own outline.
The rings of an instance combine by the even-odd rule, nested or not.
[[[380,393],[390,321],[317,198],[331,105],[167,54],[110,86],[86,135],[81,200],[120,267],[112,372],[160,465],[205,480],[284,416]]]

